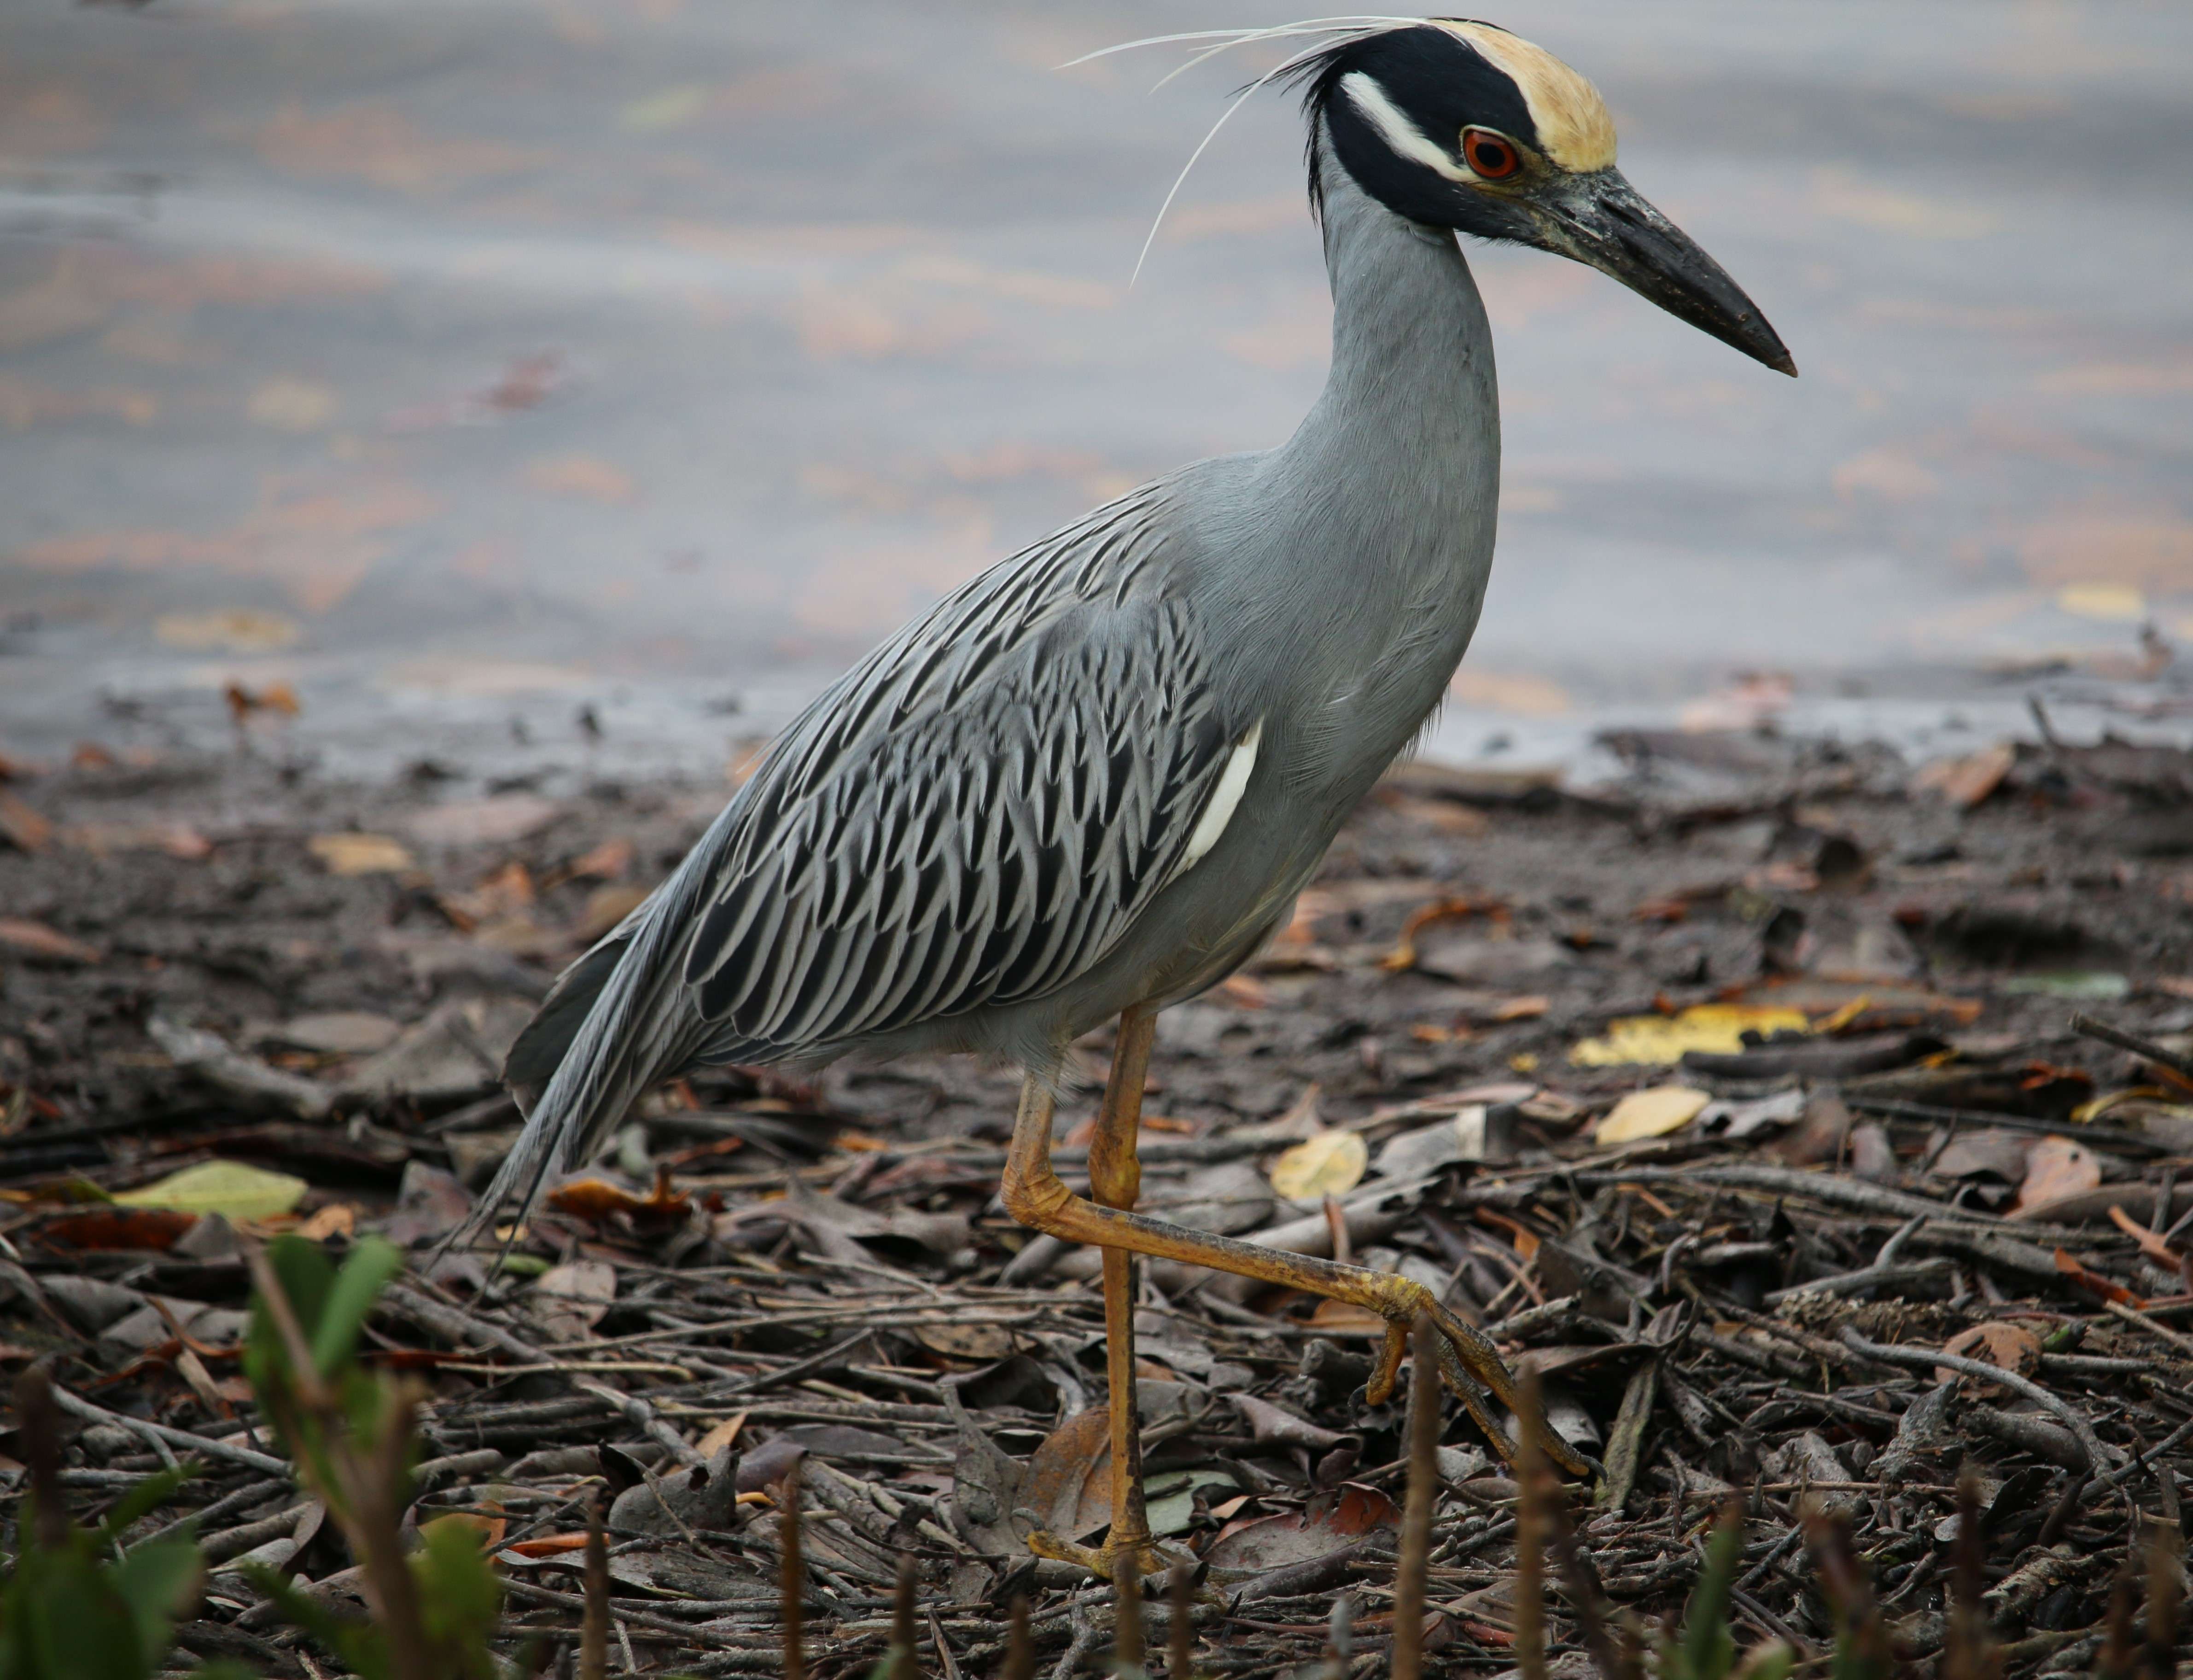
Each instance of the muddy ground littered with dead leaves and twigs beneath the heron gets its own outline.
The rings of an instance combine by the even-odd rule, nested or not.
[[[1285,937],[1164,1015],[1145,1206],[1404,1270],[1487,1325],[1607,1465],[1570,1500],[1616,1605],[1673,1610],[1737,1494],[1737,1621],[1822,1649],[1798,1537],[1822,1500],[1930,1665],[1969,1467],[2007,1671],[2088,1671],[2193,1469],[2193,761],[1618,746],[1632,779],[1590,792],[1390,776]],[[502,1046],[719,790],[79,754],[4,792],[0,1360],[50,1364],[79,1516],[200,1465],[136,1524],[197,1513],[184,1647],[303,1676],[235,1566],[331,1603],[355,1570],[252,1417],[243,1244],[384,1233],[425,1268],[515,1127]],[[1103,1033],[1083,1059],[1068,1176]],[[1013,1097],[952,1059],[697,1077],[507,1268],[390,1290],[371,1355],[434,1393],[414,1520],[480,1526],[513,1643],[575,1634],[607,1494],[638,1671],[776,1669],[798,1467],[818,1673],[884,1651],[901,1559],[925,1671],[998,1671],[1018,1594],[1046,1669],[1096,1662],[1110,1594],[1022,1544],[1110,1518],[1096,1263],[1004,1217]],[[1197,1667],[1314,1662],[1336,1597],[1377,1667],[1404,1502],[1401,1406],[1360,1397],[1377,1325],[1178,1265],[1140,1287],[1147,1494],[1202,1568]],[[1439,1469],[1432,1660],[1504,1671],[1515,1485],[1458,1408]],[[1577,1632],[1555,1616],[1557,1665]]]

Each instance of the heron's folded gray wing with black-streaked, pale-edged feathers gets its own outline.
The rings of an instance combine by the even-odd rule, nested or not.
[[[776,746],[706,842],[711,1059],[1039,998],[1180,869],[1232,741],[1156,498],[978,577]]]

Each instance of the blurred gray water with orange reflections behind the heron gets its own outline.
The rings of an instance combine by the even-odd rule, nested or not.
[[[713,768],[1325,373],[1270,7],[0,0],[0,752]],[[1531,0],[1796,384],[1472,250],[1500,559],[1434,739],[2182,733],[2193,9]],[[276,689],[279,691],[279,689]],[[2083,711],[2081,711],[2083,708]]]

